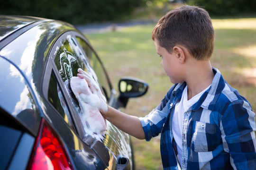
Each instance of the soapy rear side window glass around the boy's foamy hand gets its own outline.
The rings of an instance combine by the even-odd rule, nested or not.
[[[77,120],[76,118],[76,124],[80,124],[80,122],[82,123],[84,129],[86,129],[83,132],[83,135],[86,136],[87,134],[93,134],[91,133],[90,129],[88,130],[88,124],[86,124],[87,119],[85,119],[85,117],[82,115],[79,102],[72,92],[70,79],[73,76],[77,76],[78,68],[82,68],[84,71],[90,74],[96,82],[98,82],[98,79],[80,48],[81,47],[77,46],[76,41],[74,41],[71,36],[67,36],[67,39],[62,43],[60,47],[57,48],[57,51],[55,51],[54,63],[63,80],[69,101],[72,102],[73,108],[78,113],[78,119],[80,120]]]

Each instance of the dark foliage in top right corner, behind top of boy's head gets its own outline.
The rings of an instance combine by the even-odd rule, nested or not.
[[[210,15],[215,16],[256,13],[255,0],[190,0],[188,4],[204,7]]]

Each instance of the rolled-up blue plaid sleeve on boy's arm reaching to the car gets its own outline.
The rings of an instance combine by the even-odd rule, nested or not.
[[[146,141],[150,141],[151,138],[158,136],[162,131],[165,124],[165,118],[169,112],[170,101],[168,96],[170,92],[171,91],[169,90],[160,104],[148,115],[144,118],[139,118],[145,132]]]

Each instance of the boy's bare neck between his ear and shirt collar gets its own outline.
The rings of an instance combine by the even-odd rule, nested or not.
[[[214,77],[210,61],[192,61],[186,69],[186,83],[188,86],[188,100],[206,89]]]

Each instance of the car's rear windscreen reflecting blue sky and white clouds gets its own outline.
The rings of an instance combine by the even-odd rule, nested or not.
[[[27,80],[19,70],[0,57],[0,108],[24,123],[32,132],[37,133],[40,115],[28,87]],[[7,97],[8,96],[8,97]]]

